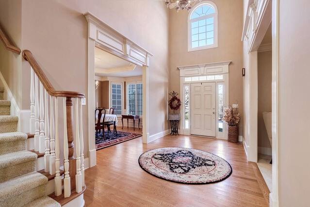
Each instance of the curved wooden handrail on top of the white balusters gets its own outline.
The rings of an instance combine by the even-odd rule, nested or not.
[[[47,90],[49,95],[55,96],[55,97],[84,98],[83,93],[74,92],[74,91],[55,90],[54,87],[49,82],[49,79],[46,77],[43,70],[39,66],[39,64],[34,59],[33,54],[29,50],[23,51],[23,58],[29,62],[29,64],[33,68],[33,71],[38,76],[39,80],[41,81],[41,83],[43,84],[44,88]]]

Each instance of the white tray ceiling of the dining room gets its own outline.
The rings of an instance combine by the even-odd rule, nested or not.
[[[141,67],[135,67],[134,70],[129,67],[132,63],[119,58],[109,52],[105,52],[99,48],[95,48],[95,75],[99,77],[132,77],[142,75]],[[121,68],[126,68],[123,71]],[[130,69],[131,68],[131,69]],[[99,71],[101,69],[101,71]],[[102,72],[102,70],[109,71],[108,73]],[[111,71],[115,70],[115,72]],[[117,71],[118,70],[118,71]]]

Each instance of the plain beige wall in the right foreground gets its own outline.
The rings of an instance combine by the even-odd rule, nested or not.
[[[280,207],[309,206],[309,7],[309,0],[280,0],[279,2],[278,185]]]

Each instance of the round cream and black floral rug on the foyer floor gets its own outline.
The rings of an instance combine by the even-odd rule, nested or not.
[[[225,159],[190,148],[153,149],[140,155],[139,165],[158,178],[185,184],[216,183],[232,173]]]

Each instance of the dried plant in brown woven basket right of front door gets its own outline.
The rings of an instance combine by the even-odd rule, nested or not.
[[[239,136],[239,121],[240,114],[238,108],[233,108],[231,105],[224,110],[223,120],[228,123],[228,141],[229,142],[238,142]]]

